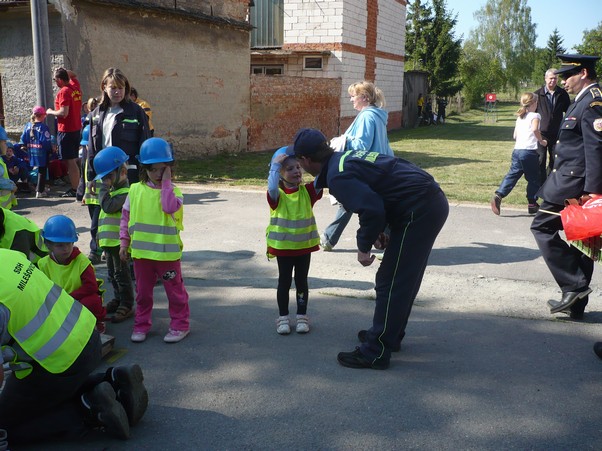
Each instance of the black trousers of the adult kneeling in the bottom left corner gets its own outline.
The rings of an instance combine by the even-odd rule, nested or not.
[[[91,375],[100,361],[100,335],[93,331],[82,353],[64,373],[52,374],[34,364],[24,379],[9,374],[0,393],[0,428],[8,432],[9,443],[83,435],[88,427],[80,396],[105,378],[104,373]]]

